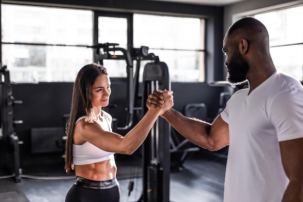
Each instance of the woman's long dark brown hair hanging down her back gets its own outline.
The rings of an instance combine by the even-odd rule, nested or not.
[[[73,169],[73,134],[78,118],[86,116],[85,121],[93,123],[95,118],[91,105],[91,86],[96,78],[107,75],[106,68],[101,64],[88,64],[80,69],[74,84],[70,118],[66,125],[67,140],[65,143],[65,171]]]

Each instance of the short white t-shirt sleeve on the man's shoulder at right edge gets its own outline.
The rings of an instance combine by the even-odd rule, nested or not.
[[[277,94],[270,119],[279,141],[303,138],[303,89],[293,88]]]

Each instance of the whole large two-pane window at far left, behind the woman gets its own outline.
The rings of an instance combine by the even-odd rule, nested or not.
[[[1,5],[2,63],[14,82],[74,82],[92,62],[92,12]]]

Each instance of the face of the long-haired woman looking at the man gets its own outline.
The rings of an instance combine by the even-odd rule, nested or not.
[[[91,105],[92,107],[106,107],[109,101],[110,79],[108,75],[101,75],[96,78],[91,86]]]

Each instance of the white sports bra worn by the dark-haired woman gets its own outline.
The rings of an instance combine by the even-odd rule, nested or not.
[[[104,114],[105,120],[108,124],[108,130],[112,131],[111,126],[109,125],[109,119],[105,111],[102,111]],[[78,121],[84,119],[85,116],[80,117]],[[97,163],[100,161],[105,161],[109,159],[114,159],[114,154],[112,152],[106,152],[102,149],[99,149],[90,142],[85,142],[82,145],[73,144],[73,163],[75,165],[85,165],[91,163]]]

